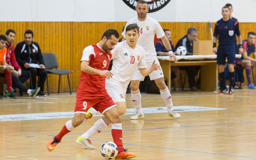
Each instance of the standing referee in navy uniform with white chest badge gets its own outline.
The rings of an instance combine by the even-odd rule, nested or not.
[[[213,52],[217,52],[216,42],[219,36],[219,46],[217,52],[217,64],[219,65],[219,79],[220,79],[220,95],[226,92],[226,80],[225,80],[225,64],[226,58],[228,59],[228,70],[229,70],[229,95],[234,94],[233,83],[234,83],[234,64],[236,54],[236,35],[239,41],[239,53],[242,54],[242,36],[239,30],[238,20],[229,18],[230,11],[228,6],[222,8],[222,16],[214,28],[213,34]]]

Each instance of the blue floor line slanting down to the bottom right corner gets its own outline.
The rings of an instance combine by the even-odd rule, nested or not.
[[[76,138],[70,138],[70,137],[63,137],[63,138],[76,139]],[[91,140],[91,141],[94,141],[94,142],[103,142],[103,143],[105,142],[105,141],[101,141],[101,140]],[[134,145],[134,146],[142,146],[142,147],[149,147],[149,148],[169,149],[169,150],[177,150],[177,151],[187,151],[187,152],[206,153],[206,154],[215,154],[215,155],[224,155],[224,156],[233,156],[233,157],[241,157],[241,158],[256,159],[256,158],[254,158],[254,157],[237,156],[237,155],[220,154],[220,153],[210,153],[210,152],[201,152],[201,151],[194,151],[194,150],[164,148],[164,147],[157,147],[157,146],[138,145],[138,144],[128,144],[128,143],[123,143],[123,144],[126,144],[126,145]]]

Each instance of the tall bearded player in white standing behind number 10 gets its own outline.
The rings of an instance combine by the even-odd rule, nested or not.
[[[161,38],[162,43],[164,44],[165,48],[169,51],[169,57],[170,59],[174,59],[175,62],[177,62],[176,56],[173,54],[171,50],[171,45],[167,37],[165,36],[165,33],[160,26],[159,22],[156,21],[155,19],[147,16],[147,12],[149,11],[148,8],[148,2],[141,0],[138,1],[136,11],[138,16],[135,18],[132,18],[126,23],[126,27],[131,24],[131,23],[137,23],[138,26],[140,27],[140,38],[138,39],[138,44],[142,46],[145,50],[146,54],[146,64],[150,66],[150,64],[155,60],[156,63],[159,64],[158,59],[156,58],[156,50],[154,46],[154,36],[156,34],[157,38]],[[126,28],[125,27],[125,28]],[[126,30],[126,29],[124,29]],[[124,36],[124,33],[122,35]],[[155,80],[156,85],[160,89],[160,94],[162,99],[164,100],[167,108],[168,108],[168,113],[169,117],[174,117],[179,118],[180,114],[176,113],[172,109],[172,98],[169,89],[165,85],[164,82],[164,74],[162,72],[162,68],[159,65],[159,70],[154,71],[149,75],[150,80]],[[133,78],[131,80],[131,94],[132,94],[132,101],[133,105],[137,110],[137,113],[134,114],[130,119],[140,119],[144,117],[144,113],[142,111],[141,107],[141,95],[139,91],[139,84],[140,81],[144,80],[144,76],[140,74],[138,70],[135,71]]]

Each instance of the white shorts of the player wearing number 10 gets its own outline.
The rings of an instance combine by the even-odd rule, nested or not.
[[[105,88],[108,92],[108,95],[110,95],[115,103],[126,102],[126,88],[124,88],[121,84],[116,82],[106,83]]]

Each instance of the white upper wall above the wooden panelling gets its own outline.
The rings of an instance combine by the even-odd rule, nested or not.
[[[171,0],[148,14],[159,22],[216,22],[226,3],[239,22],[256,22],[256,0]],[[137,16],[122,0],[0,0],[0,21],[125,22]]]

